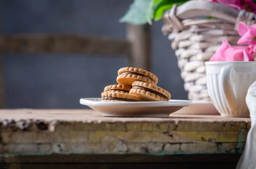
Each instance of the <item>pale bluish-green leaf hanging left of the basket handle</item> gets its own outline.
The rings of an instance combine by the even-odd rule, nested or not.
[[[156,0],[159,1],[159,0]],[[119,22],[140,25],[152,24],[154,0],[134,0],[125,16],[120,18]]]

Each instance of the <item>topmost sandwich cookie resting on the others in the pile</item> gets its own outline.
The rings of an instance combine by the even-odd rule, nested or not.
[[[146,70],[132,67],[125,67],[119,69],[118,76],[116,78],[116,81],[119,84],[131,86],[132,83],[136,80],[154,85],[156,85],[158,82],[157,76]]]

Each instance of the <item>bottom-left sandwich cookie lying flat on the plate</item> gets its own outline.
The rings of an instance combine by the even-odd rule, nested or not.
[[[135,101],[141,101],[141,97],[137,95],[131,95],[128,93],[103,92],[102,101],[135,102]]]

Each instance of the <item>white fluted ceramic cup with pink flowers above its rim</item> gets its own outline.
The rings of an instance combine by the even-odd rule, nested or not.
[[[224,117],[250,117],[245,97],[256,81],[256,62],[205,62],[207,89]]]

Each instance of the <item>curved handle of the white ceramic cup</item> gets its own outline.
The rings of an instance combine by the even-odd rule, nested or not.
[[[236,76],[236,71],[232,66],[223,66],[221,68],[221,87],[224,97],[227,100],[227,106],[231,111],[237,110],[236,96],[232,88],[232,81]]]

